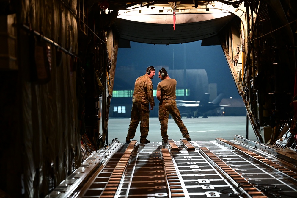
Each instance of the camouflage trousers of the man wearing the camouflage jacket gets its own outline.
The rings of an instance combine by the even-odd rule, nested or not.
[[[133,102],[127,138],[134,138],[137,126],[140,121],[140,140],[145,139],[148,135],[149,120],[149,105]]]

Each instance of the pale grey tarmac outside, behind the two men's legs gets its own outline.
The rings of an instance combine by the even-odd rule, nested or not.
[[[183,123],[186,125],[190,138],[192,141],[211,141],[215,138],[224,138],[225,140],[233,140],[234,135],[241,135],[246,138],[246,116],[212,116],[208,118],[182,118]],[[111,143],[112,139],[117,138],[120,143],[125,143],[130,118],[109,118],[108,121],[108,139],[106,144]],[[249,140],[257,141],[256,135],[248,121]],[[167,134],[169,139],[179,141],[183,136],[177,124],[173,119],[168,121]],[[133,140],[138,142],[140,136],[140,123],[137,127],[135,137]],[[147,139],[150,142],[161,142],[160,122],[158,118],[150,118],[149,135]]]

